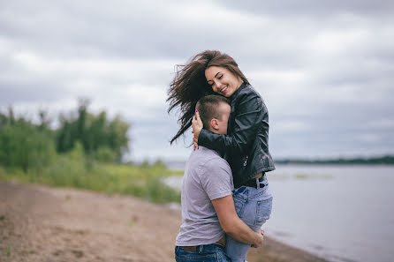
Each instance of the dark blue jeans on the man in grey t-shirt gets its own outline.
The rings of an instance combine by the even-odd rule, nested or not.
[[[231,262],[219,243],[199,245],[196,252],[184,251],[183,246],[175,247],[177,262]]]

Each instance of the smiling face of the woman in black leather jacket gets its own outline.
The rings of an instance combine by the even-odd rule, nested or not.
[[[205,70],[208,85],[215,93],[230,97],[239,89],[243,81],[231,71],[220,66],[210,66]]]

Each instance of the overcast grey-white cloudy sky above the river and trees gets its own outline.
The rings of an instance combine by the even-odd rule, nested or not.
[[[394,153],[394,2],[0,2],[0,110],[76,108],[132,124],[131,157],[185,160],[165,102],[175,64],[238,62],[269,108],[274,158]]]

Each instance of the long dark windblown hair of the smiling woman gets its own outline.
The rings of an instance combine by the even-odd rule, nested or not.
[[[215,94],[205,78],[205,70],[210,66],[224,67],[242,79],[246,84],[249,84],[234,59],[220,51],[205,50],[193,56],[187,64],[177,64],[175,77],[170,83],[167,101],[170,101],[168,113],[172,109],[178,109],[180,111],[178,118],[180,128],[177,134],[171,138],[170,144],[184,134],[192,125],[194,108],[197,101],[202,96]]]

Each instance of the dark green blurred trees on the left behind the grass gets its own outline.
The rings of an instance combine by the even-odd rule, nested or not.
[[[88,105],[80,100],[75,111],[58,116],[57,128],[51,128],[45,110],[38,112],[38,123],[15,116],[11,107],[0,111],[0,165],[27,172],[48,167],[76,149],[87,162],[120,162],[129,150],[130,124],[120,116],[110,119],[105,111],[93,114]]]

